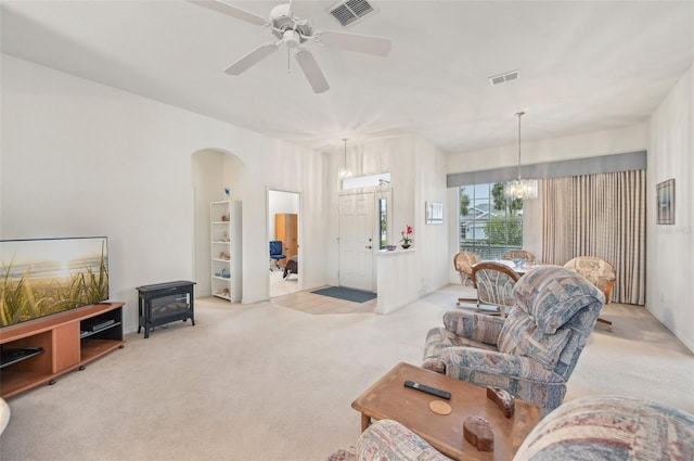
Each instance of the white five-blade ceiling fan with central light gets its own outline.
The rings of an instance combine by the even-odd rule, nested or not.
[[[311,52],[301,47],[306,41],[314,41],[326,47],[380,56],[385,56],[390,52],[390,40],[387,38],[331,30],[314,30],[311,26],[310,20],[300,20],[294,16],[294,13],[292,12],[292,0],[290,0],[288,3],[282,3],[274,7],[270,11],[270,15],[267,20],[255,13],[250,13],[237,7],[232,7],[231,4],[219,0],[188,1],[219,13],[228,14],[250,24],[269,27],[272,35],[279,39],[279,41],[275,42],[261,44],[231,64],[224,69],[224,73],[229,75],[241,75],[261,60],[272,54],[272,52],[280,48],[281,44],[285,44],[287,53],[296,50],[294,57],[304,72],[304,75],[308,79],[311,88],[313,88],[313,91],[322,93],[326,91],[330,86],[327,85],[327,80],[325,80],[323,72],[319,67],[318,62],[316,62]]]

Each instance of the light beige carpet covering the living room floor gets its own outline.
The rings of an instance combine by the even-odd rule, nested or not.
[[[197,299],[195,326],[129,334],[86,370],[10,398],[0,459],[324,460],[359,436],[352,400],[396,363],[419,364],[460,293],[449,285],[387,316]],[[643,307],[603,316],[614,331],[595,328],[566,400],[621,394],[694,413],[694,355]]]

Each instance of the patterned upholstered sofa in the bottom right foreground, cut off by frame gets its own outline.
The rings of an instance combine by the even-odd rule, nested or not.
[[[466,447],[475,450],[466,443]],[[329,461],[450,461],[393,420],[373,423],[356,450]],[[694,415],[655,401],[588,396],[568,401],[535,426],[513,461],[692,461]]]

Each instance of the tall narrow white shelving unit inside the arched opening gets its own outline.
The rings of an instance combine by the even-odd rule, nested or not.
[[[241,300],[241,202],[209,204],[211,294]]]

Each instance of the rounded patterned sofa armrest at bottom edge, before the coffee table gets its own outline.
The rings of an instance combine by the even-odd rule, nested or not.
[[[371,424],[357,439],[359,461],[451,461],[422,437],[393,420]]]

